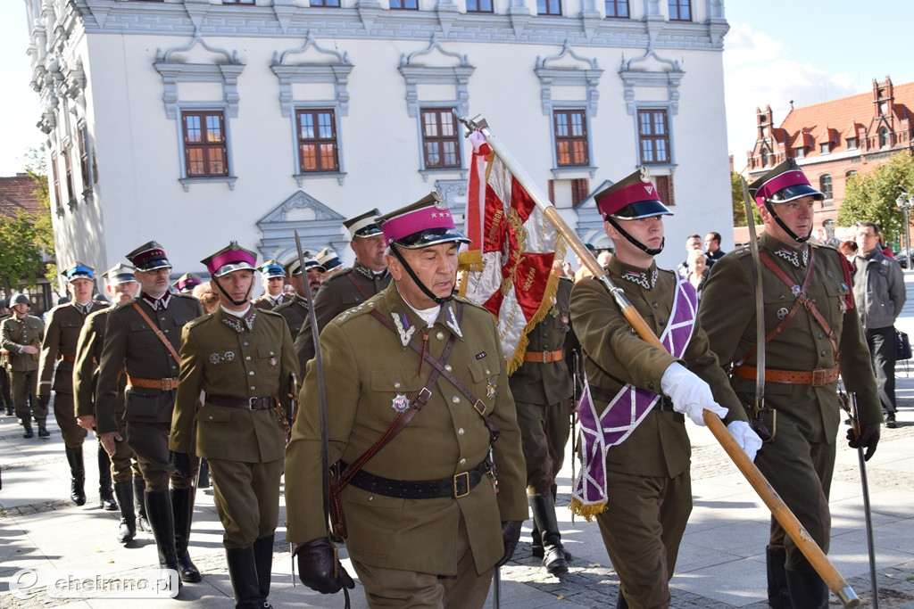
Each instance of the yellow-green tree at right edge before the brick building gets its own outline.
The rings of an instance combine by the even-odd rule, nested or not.
[[[914,158],[907,152],[893,154],[870,173],[849,176],[836,223],[875,222],[888,239],[899,232],[903,235],[905,216],[896,203],[902,193],[914,196]]]

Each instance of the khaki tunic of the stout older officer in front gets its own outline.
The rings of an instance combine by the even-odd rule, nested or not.
[[[346,281],[346,279],[343,279]],[[429,333],[427,350],[440,358],[452,334],[458,338],[448,363],[452,373],[486,406],[501,429],[494,443],[497,496],[489,478],[460,499],[396,499],[354,485],[343,490],[354,561],[402,571],[453,574],[457,570],[456,531],[462,519],[477,573],[491,569],[504,554],[501,522],[526,520],[524,457],[508,388],[505,358],[492,314],[463,301],[459,329],[445,323],[456,303],[445,305]],[[399,296],[396,285],[349,310],[324,327],[321,351],[328,398],[330,460],[352,463],[372,446],[397,412],[398,396],[418,394],[432,366],[419,371],[420,356],[373,315],[400,320],[407,341],[421,341],[425,322]],[[418,326],[418,327],[417,327]],[[412,333],[409,333],[412,329]],[[409,333],[409,334],[407,334]],[[371,349],[366,349],[371,345]],[[488,391],[487,391],[488,390]],[[286,449],[288,540],[311,541],[327,531],[321,498],[321,436],[317,378],[312,363],[302,391],[302,411]],[[443,376],[421,411],[363,471],[395,480],[451,478],[482,463],[489,431],[465,397]]]

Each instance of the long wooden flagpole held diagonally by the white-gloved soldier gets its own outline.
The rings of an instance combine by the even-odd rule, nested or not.
[[[632,325],[632,328],[638,332],[638,336],[640,336],[643,341],[648,342],[658,349],[664,349],[665,351],[663,343],[647,325],[647,322],[644,321],[641,314],[632,306],[632,303],[625,298],[622,289],[612,283],[611,279],[606,274],[606,271],[600,267],[600,263],[593,257],[590,249],[584,245],[584,242],[580,240],[580,237],[565,223],[562,216],[558,214],[558,209],[549,202],[542,191],[537,188],[537,184],[529,174],[527,174],[524,168],[517,163],[514,156],[507,151],[505,145],[489,129],[489,125],[485,119],[482,116],[477,116],[474,119],[462,117],[457,114],[457,110],[453,110],[453,114],[471,133],[473,131],[479,131],[483,134],[485,142],[489,144],[492,151],[498,155],[498,158],[505,164],[505,167],[515,176],[517,182],[524,187],[537,207],[542,210],[543,214],[546,215],[549,221],[556,227],[558,233],[578,255],[581,264],[585,265],[590,272],[593,273],[593,276],[600,279],[603,285],[606,286],[606,289],[610,291],[612,299],[615,300],[620,310],[622,310],[622,315],[625,317],[625,320],[627,320]],[[739,471],[746,477],[752,488],[759,494],[760,499],[768,506],[768,509],[771,510],[771,514],[781,523],[781,527],[791,536],[792,541],[800,551],[802,551],[803,556],[810,562],[813,569],[819,573],[819,576],[822,577],[824,583],[838,597],[838,600],[848,609],[860,604],[860,599],[857,598],[854,590],[848,585],[845,578],[841,576],[841,573],[834,568],[832,562],[825,556],[824,551],[822,551],[815,541],[813,541],[812,536],[803,528],[800,520],[797,520],[796,516],[793,515],[793,512],[787,507],[787,504],[784,503],[777,491],[771,487],[771,484],[761,474],[759,468],[755,467],[755,464],[752,463],[749,456],[746,455],[745,451],[737,444],[733,436],[730,435],[727,427],[724,426],[723,421],[709,410],[705,410],[704,418],[705,425],[707,425],[707,428],[710,429],[711,433],[717,438],[717,442],[724,448],[728,457],[730,457],[736,466],[739,467]]]

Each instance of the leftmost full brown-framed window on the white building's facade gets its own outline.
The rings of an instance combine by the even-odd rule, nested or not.
[[[182,113],[184,156],[188,178],[228,175],[228,148],[222,110]]]

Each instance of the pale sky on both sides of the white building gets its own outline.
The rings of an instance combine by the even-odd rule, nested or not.
[[[25,168],[27,147],[45,137],[35,127],[40,108],[28,84],[25,3],[2,2],[0,175],[14,175]],[[725,13],[728,148],[737,171],[755,142],[757,106],[770,104],[780,123],[791,100],[800,107],[868,92],[873,79],[886,76],[896,84],[914,80],[910,0],[725,0]]]

